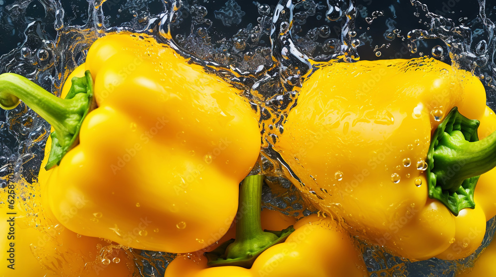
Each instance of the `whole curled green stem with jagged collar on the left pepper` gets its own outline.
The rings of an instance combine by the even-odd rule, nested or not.
[[[78,142],[82,120],[95,106],[93,80],[89,71],[81,78],[72,78],[72,86],[65,99],[59,98],[28,79],[13,73],[0,75],[0,107],[15,108],[21,99],[43,117],[55,132],[46,169],[60,163],[63,155]]]

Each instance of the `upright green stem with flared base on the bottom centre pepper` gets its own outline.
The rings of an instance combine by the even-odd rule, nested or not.
[[[274,244],[283,242],[294,231],[263,231],[260,220],[263,175],[245,178],[240,187],[240,205],[236,223],[236,239],[206,252],[209,266],[240,266],[250,268],[256,257]]]

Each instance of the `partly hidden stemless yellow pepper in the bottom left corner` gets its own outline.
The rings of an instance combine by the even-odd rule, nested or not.
[[[0,190],[0,198],[10,200],[10,192],[16,195],[13,204],[5,201],[0,208],[0,276],[133,276],[135,266],[128,251],[64,228],[43,208],[36,184],[8,183]]]

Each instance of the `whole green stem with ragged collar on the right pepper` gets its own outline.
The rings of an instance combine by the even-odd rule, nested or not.
[[[438,199],[454,215],[475,208],[479,176],[496,166],[496,132],[479,140],[479,121],[453,108],[439,124],[427,154],[429,197]]]

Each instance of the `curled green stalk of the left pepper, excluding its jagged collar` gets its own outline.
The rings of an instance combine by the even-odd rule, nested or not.
[[[59,137],[74,133],[74,124],[80,120],[78,114],[87,105],[78,103],[78,98],[62,99],[27,78],[4,73],[0,75],[0,107],[6,110],[15,108],[19,99],[43,117],[58,132]],[[60,143],[64,144],[63,139]]]

